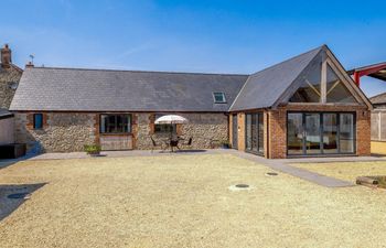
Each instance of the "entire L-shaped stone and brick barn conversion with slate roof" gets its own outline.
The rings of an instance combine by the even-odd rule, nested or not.
[[[17,142],[46,152],[174,132],[270,159],[371,154],[372,104],[326,45],[251,75],[30,67],[11,110]],[[154,125],[165,114],[190,122]]]

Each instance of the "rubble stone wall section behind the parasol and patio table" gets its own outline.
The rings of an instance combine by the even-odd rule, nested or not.
[[[208,149],[218,147],[222,141],[228,141],[228,117],[224,114],[176,114],[185,117],[189,123],[178,126],[178,134],[187,139],[192,137],[192,149]],[[135,114],[137,116],[136,149],[152,148],[150,137],[160,143],[170,137],[169,133],[154,133],[154,114]]]

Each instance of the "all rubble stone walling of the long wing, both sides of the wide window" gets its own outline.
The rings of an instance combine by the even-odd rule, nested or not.
[[[178,134],[187,142],[193,138],[191,149],[218,147],[228,140],[228,119],[224,114],[179,114],[189,120],[179,125]],[[83,151],[84,144],[99,142],[99,115],[75,112],[43,114],[43,129],[33,129],[33,112],[15,114],[15,141],[26,143],[34,152]],[[154,114],[132,114],[133,149],[152,149],[150,137],[160,143],[169,133],[154,133]],[[183,147],[183,145],[182,145]]]

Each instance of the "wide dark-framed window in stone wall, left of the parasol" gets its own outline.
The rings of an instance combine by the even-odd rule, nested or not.
[[[131,132],[131,115],[100,115],[100,133]]]

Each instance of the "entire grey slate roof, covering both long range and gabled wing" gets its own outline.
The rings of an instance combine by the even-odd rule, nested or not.
[[[227,112],[269,108],[325,45],[251,75],[26,68],[10,110]],[[214,104],[213,93],[226,104]]]

